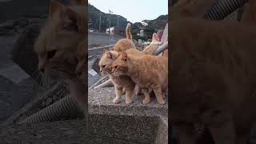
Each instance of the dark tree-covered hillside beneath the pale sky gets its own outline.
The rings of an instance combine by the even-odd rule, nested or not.
[[[110,14],[103,13],[101,10],[98,10],[96,7],[89,4],[88,6],[89,20],[90,20],[90,28],[97,29],[99,28],[99,17],[102,15],[102,25],[101,29],[106,30],[109,27],[108,18],[110,18]],[[154,20],[143,20],[142,22],[129,22],[126,18],[119,16],[116,14],[111,14],[111,26],[119,26],[122,29],[125,29],[127,23],[131,24],[131,32],[132,34],[138,34],[140,29],[149,30],[150,33],[154,30],[163,30],[166,26],[168,19],[168,15],[161,15]]]

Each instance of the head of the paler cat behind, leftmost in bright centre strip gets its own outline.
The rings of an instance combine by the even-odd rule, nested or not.
[[[111,65],[118,58],[118,52],[113,50],[104,50],[98,66],[102,75],[111,74]]]

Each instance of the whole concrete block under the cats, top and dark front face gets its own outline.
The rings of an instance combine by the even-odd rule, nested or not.
[[[95,134],[103,137],[121,138],[125,142],[168,143],[167,96],[165,98],[165,105],[158,104],[154,97],[151,97],[149,104],[144,105],[142,104],[142,96],[134,96],[134,102],[127,105],[124,102],[124,95],[122,96],[122,102],[114,104],[112,102],[114,97],[113,87],[88,90],[89,114],[104,115],[103,117],[94,117],[96,119],[90,118],[89,127],[96,127],[91,127],[89,130],[95,130]],[[129,127],[134,126],[134,124],[136,127],[129,130]],[[119,129],[119,131],[115,129]],[[123,130],[129,130],[130,134],[123,132]],[[90,134],[94,133],[90,132]],[[136,138],[134,135],[140,138]],[[100,138],[99,143],[101,141],[102,139]]]

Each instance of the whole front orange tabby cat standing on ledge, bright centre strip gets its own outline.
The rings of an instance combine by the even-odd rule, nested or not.
[[[112,64],[112,75],[128,75],[138,86],[142,88],[145,96],[143,103],[150,102],[148,89],[154,90],[157,101],[164,104],[163,97],[166,94],[168,79],[168,58],[143,54],[134,56],[127,52],[120,52],[118,58]]]

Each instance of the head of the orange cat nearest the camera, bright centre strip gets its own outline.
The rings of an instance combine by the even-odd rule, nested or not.
[[[126,52],[119,52],[118,58],[112,63],[111,74],[114,76],[126,75],[129,65],[128,54]]]

